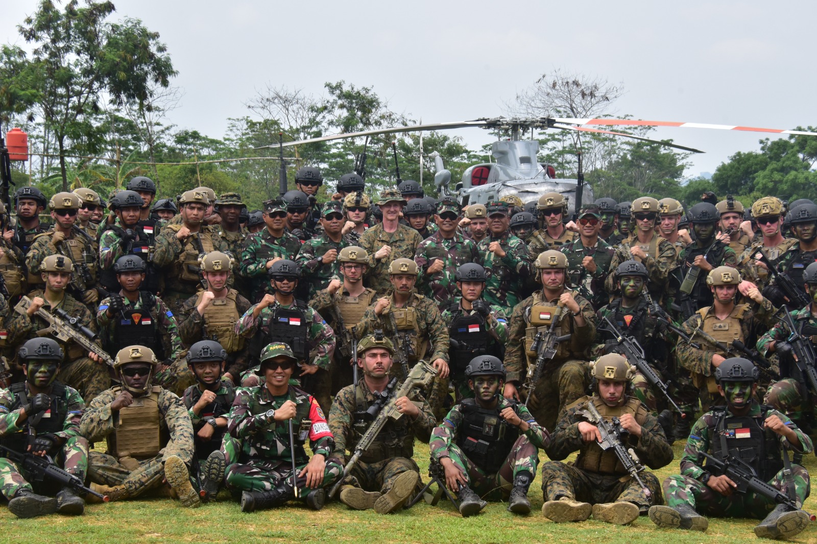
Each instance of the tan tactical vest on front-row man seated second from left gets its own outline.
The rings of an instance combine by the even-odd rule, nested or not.
[[[120,387],[114,387],[118,395]],[[162,413],[158,409],[158,394],[162,388],[154,386],[150,395],[134,397],[130,406],[119,410],[119,426],[108,435],[108,453],[114,457],[150,459],[167,444],[162,432]]]

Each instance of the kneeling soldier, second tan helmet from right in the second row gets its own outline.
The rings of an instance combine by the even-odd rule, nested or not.
[[[570,333],[569,341],[560,342],[556,356],[549,361],[538,383],[528,383],[527,406],[543,427],[553,428],[556,417],[574,402],[586,388],[586,363],[589,348],[596,337],[596,314],[587,299],[565,288],[567,256],[556,250],[542,252],[534,261],[542,290],[516,305],[508,329],[505,363],[506,399],[519,399],[519,388],[525,368],[534,367],[538,354],[533,350],[537,332],[546,332],[553,319],[560,319],[554,332]],[[563,309],[564,307],[564,309]],[[561,315],[563,314],[563,315]],[[529,376],[532,376],[529,372]]]

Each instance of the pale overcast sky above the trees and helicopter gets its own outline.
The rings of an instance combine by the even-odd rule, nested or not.
[[[0,38],[38,2],[3,2]],[[503,113],[516,92],[560,68],[622,82],[615,114],[754,127],[817,125],[817,2],[251,2],[114,0],[167,44],[185,93],[178,127],[223,136],[227,118],[270,83],[323,94],[371,86],[425,123]],[[453,131],[472,148],[491,138]],[[687,176],[714,172],[761,134],[664,128],[703,149]],[[776,137],[776,136],[772,136]]]

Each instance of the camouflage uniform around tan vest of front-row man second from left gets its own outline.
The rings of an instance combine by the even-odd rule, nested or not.
[[[88,454],[88,478],[95,484],[123,485],[127,496],[137,497],[150,489],[158,488],[164,479],[164,462],[176,455],[190,467],[193,460],[193,425],[187,408],[179,397],[168,390],[158,389],[159,426],[163,435],[169,436],[165,447],[154,457],[127,461],[117,459],[109,453],[93,451]],[[103,391],[88,406],[79,423],[79,431],[91,442],[115,439],[119,426],[119,412],[110,409],[119,394],[114,387]],[[134,399],[138,399],[134,395]],[[138,462],[134,467],[133,462]]]

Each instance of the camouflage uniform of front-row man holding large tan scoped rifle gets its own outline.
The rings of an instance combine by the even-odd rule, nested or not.
[[[335,395],[335,402],[329,412],[329,430],[335,437],[335,450],[332,457],[340,465],[346,464],[365,432],[365,430],[362,432],[357,430],[354,425],[355,411],[358,410],[356,398],[358,395],[362,401],[363,410],[367,410],[374,404],[375,397],[366,386],[366,381],[360,380],[357,390],[355,386],[346,386]],[[414,402],[420,404],[418,406],[420,414],[414,419],[403,416],[397,421],[391,418],[386,420],[386,425],[377,434],[373,444],[350,470],[345,484],[385,494],[391,489],[399,475],[409,470],[420,472],[417,463],[412,458],[414,439],[428,444],[435,419],[431,413],[431,407],[422,398],[422,395],[415,393]]]

